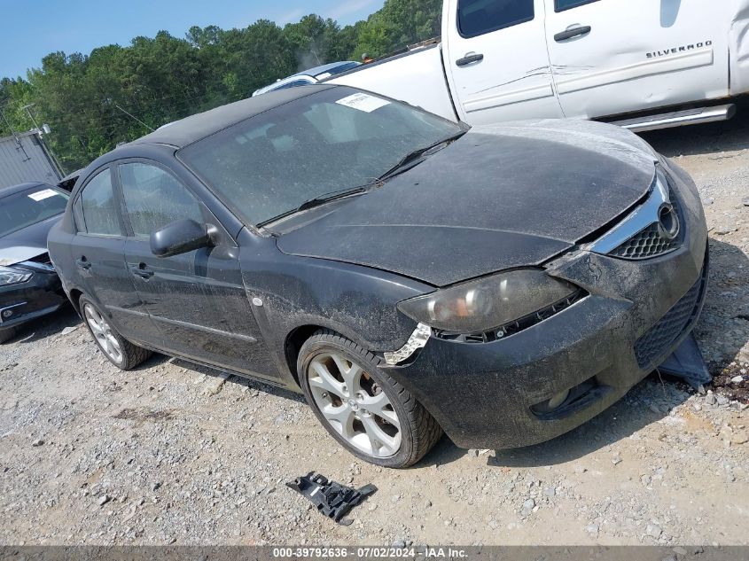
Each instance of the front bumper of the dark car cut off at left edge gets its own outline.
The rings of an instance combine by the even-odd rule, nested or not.
[[[0,287],[0,331],[50,314],[66,303],[57,273],[33,272],[25,283]]]

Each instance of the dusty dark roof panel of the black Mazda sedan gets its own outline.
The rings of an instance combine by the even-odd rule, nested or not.
[[[337,86],[300,86],[288,90],[271,91],[263,96],[247,97],[241,101],[222,105],[205,113],[197,113],[180,121],[169,123],[168,127],[162,127],[130,144],[168,144],[176,148],[182,148],[279,105],[285,105],[300,97],[307,97],[316,91],[335,87]]]

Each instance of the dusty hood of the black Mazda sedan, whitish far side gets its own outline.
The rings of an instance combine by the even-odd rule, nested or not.
[[[601,123],[475,128],[277,245],[436,286],[538,265],[636,206],[657,160],[639,137]]]

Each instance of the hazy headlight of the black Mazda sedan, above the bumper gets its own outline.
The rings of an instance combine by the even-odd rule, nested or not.
[[[403,314],[453,333],[489,331],[577,292],[539,269],[519,269],[403,300]]]

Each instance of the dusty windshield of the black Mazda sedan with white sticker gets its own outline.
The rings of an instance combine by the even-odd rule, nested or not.
[[[249,224],[377,180],[404,156],[464,132],[410,105],[332,88],[241,121],[178,152]]]

